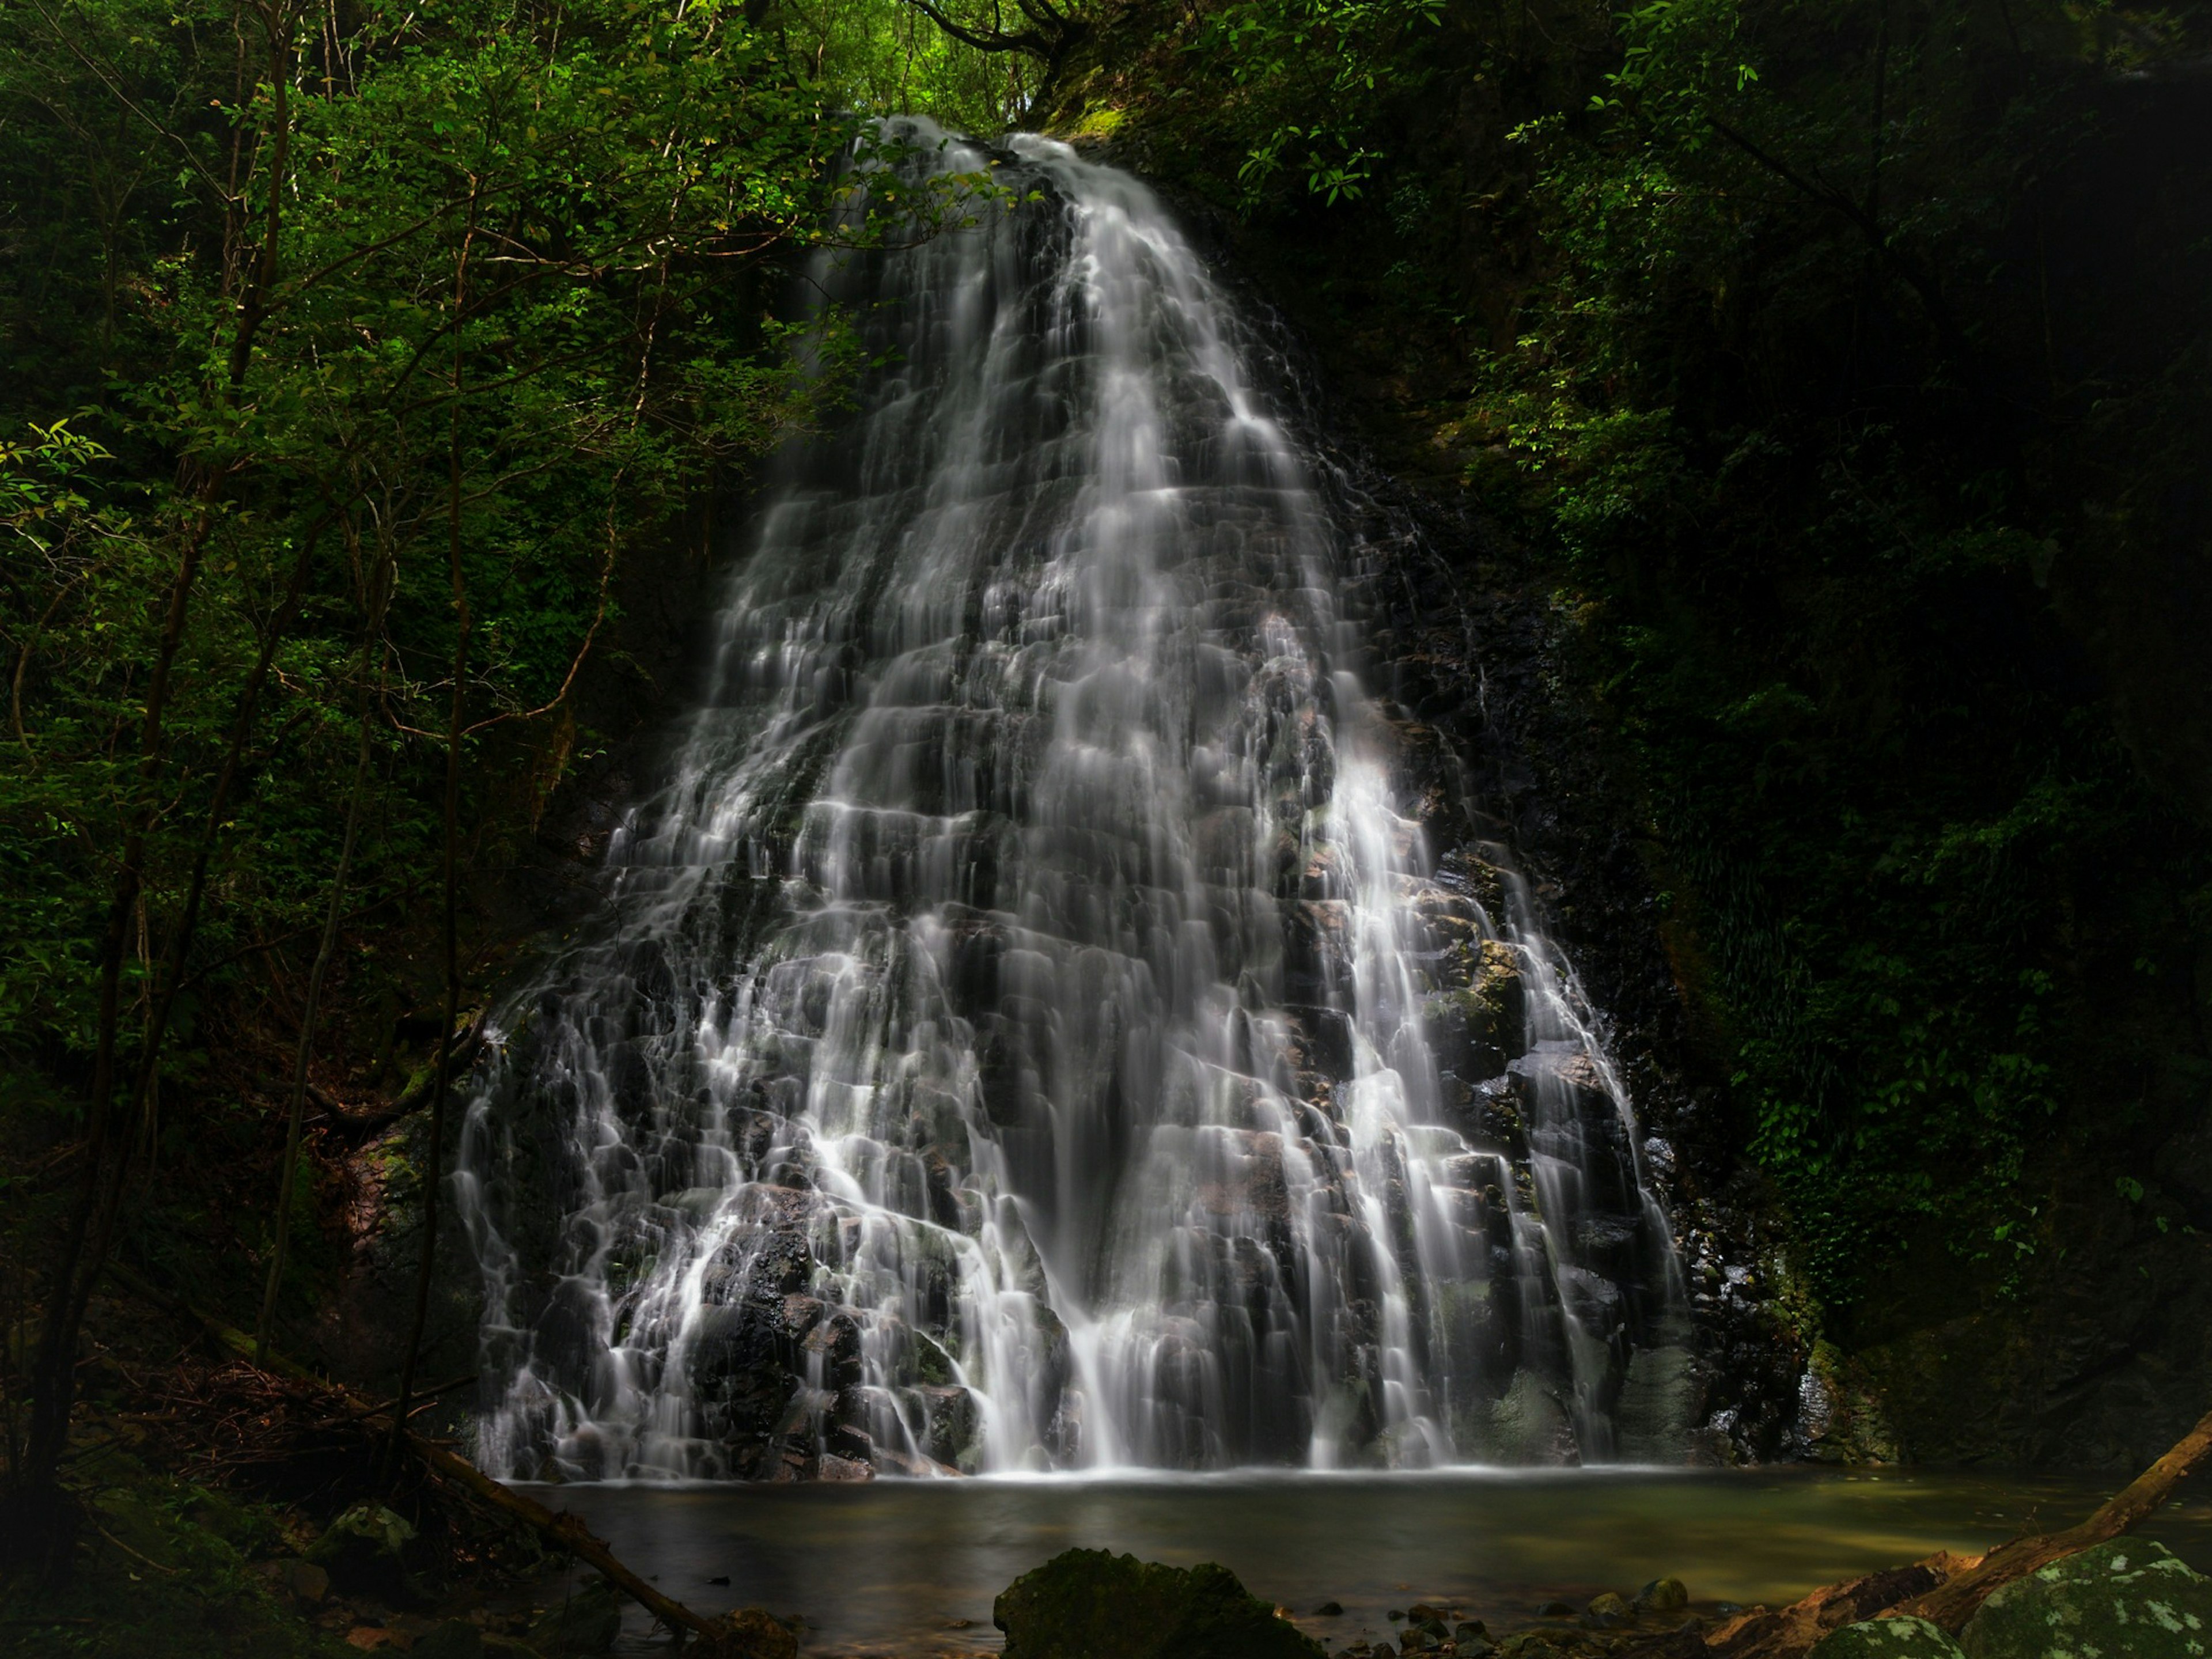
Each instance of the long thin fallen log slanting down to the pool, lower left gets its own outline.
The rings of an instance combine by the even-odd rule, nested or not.
[[[164,1294],[157,1285],[148,1283],[133,1270],[124,1267],[119,1261],[108,1261],[106,1272],[115,1283],[135,1296],[150,1301],[153,1305],[181,1316],[199,1325],[217,1345],[230,1349],[239,1358],[252,1363],[254,1338],[232,1325],[215,1318],[201,1307],[186,1303],[177,1296]],[[292,1360],[270,1354],[261,1363],[261,1369],[274,1371],[276,1376],[292,1378],[294,1383],[307,1383],[310,1387],[323,1389],[332,1400],[345,1409],[347,1418],[363,1422],[363,1427],[380,1433],[389,1433],[392,1427],[392,1405],[376,1405],[374,1400],[363,1400],[352,1389],[332,1383],[330,1378],[316,1376],[305,1365],[294,1365]],[[699,1639],[701,1659],[794,1659],[799,1644],[792,1632],[761,1613],[759,1608],[739,1608],[726,1617],[708,1617],[684,1606],[675,1597],[661,1595],[646,1579],[637,1577],[622,1559],[606,1546],[606,1540],[595,1537],[580,1515],[566,1511],[551,1511],[518,1491],[509,1491],[498,1480],[487,1475],[467,1458],[440,1447],[436,1440],[427,1440],[416,1431],[405,1431],[400,1436],[407,1451],[422,1460],[431,1473],[453,1482],[491,1509],[522,1522],[535,1531],[546,1542],[555,1544],[566,1555],[584,1562],[599,1573],[608,1584],[622,1590],[626,1597],[637,1601],[646,1613],[650,1613],[668,1630],[677,1632],[681,1639],[686,1632]]]

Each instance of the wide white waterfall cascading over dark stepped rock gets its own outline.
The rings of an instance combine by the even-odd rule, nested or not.
[[[1666,1455],[1681,1296],[1502,854],[1433,856],[1343,535],[1161,206],[825,265],[604,916],[493,1024],[480,1458],[566,1478]]]

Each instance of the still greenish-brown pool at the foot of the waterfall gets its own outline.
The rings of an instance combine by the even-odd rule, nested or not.
[[[1938,1548],[2064,1526],[2115,1489],[2095,1478],[1931,1471],[1237,1473],[1099,1480],[878,1480],[865,1486],[560,1486],[639,1573],[690,1606],[801,1617],[805,1655],[975,1655],[991,1599],[1064,1548],[1221,1562],[1332,1650],[1387,1613],[1451,1601],[1517,1621],[1553,1597],[1674,1575],[1699,1608],[1790,1601]],[[2212,1482],[2154,1517],[2212,1571]],[[728,1579],[728,1584],[712,1584]],[[1318,1617],[1323,1601],[1343,1615]],[[624,1646],[646,1650],[633,1613]]]

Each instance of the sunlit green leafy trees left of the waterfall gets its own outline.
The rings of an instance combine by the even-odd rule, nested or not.
[[[577,686],[626,562],[843,396],[852,332],[785,319],[792,265],[995,199],[863,192],[900,146],[821,55],[719,0],[0,18],[0,192],[29,254],[0,279],[22,369],[0,394],[0,1064],[35,1079],[0,1137],[24,1159],[75,1137],[168,1006],[111,1159],[146,1170],[137,1250],[221,1263],[232,1305],[272,1243],[268,1062],[299,1029],[361,721],[316,1057],[374,1088],[436,1006],[456,699],[456,845],[495,900],[588,752]],[[462,929],[478,973],[498,940]],[[51,1186],[7,1199],[11,1254],[40,1259]],[[334,1259],[312,1212],[294,1234],[307,1292]]]

